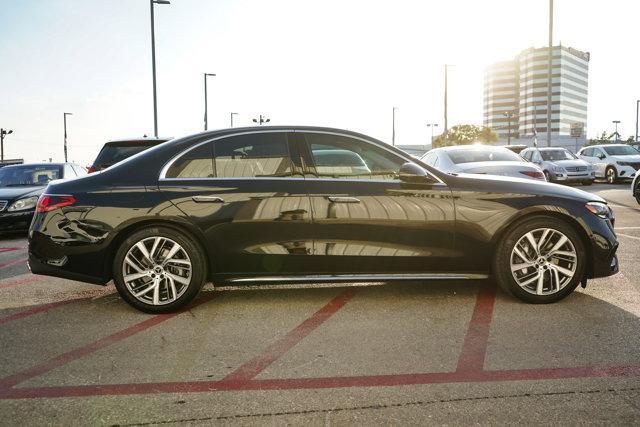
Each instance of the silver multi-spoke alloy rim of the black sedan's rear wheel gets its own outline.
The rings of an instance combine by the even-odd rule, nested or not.
[[[133,245],[122,261],[122,278],[137,300],[150,305],[174,302],[189,287],[189,255],[175,241],[148,237]]]

